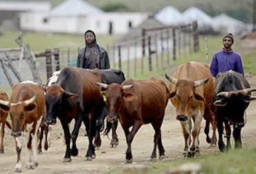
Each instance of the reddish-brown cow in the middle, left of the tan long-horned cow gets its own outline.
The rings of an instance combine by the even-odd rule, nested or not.
[[[129,79],[119,84],[98,84],[107,91],[102,91],[107,97],[109,122],[118,122],[118,118],[125,132],[127,140],[126,162],[132,162],[131,142],[138,129],[143,124],[152,124],[154,148],[150,158],[156,158],[156,146],[159,150],[159,159],[165,157],[161,138],[161,126],[165,116],[165,107],[169,99],[169,90],[166,84],[154,77],[149,79]],[[132,127],[131,131],[129,128]]]

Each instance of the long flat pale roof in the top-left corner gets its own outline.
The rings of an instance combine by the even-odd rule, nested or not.
[[[0,10],[47,12],[51,10],[51,2],[0,1]]]

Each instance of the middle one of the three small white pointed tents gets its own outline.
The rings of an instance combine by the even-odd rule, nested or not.
[[[183,23],[197,21],[199,29],[212,27],[212,17],[196,7],[190,7],[182,13]]]

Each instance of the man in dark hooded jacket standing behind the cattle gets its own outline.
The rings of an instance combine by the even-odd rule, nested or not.
[[[95,32],[86,30],[84,40],[85,47],[78,52],[76,66],[88,69],[109,69],[109,55],[102,46],[97,44]]]

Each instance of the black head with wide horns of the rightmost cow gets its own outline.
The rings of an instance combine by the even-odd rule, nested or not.
[[[247,88],[244,90],[224,91],[217,94],[217,100],[214,101],[215,106],[226,107],[229,113],[233,116],[233,124],[237,128],[244,127],[244,111],[248,103],[256,99],[250,95],[256,91],[255,88]]]

